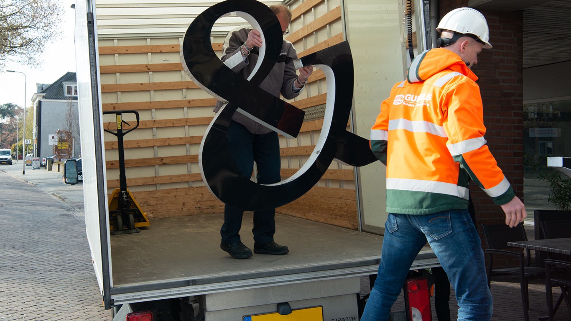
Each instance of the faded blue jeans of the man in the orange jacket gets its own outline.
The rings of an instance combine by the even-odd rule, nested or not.
[[[389,214],[385,228],[379,274],[361,321],[388,320],[412,262],[427,240],[456,292],[458,320],[490,320],[492,294],[484,251],[468,210]]]

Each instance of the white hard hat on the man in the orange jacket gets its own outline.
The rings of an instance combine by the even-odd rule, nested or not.
[[[484,43],[485,49],[492,48],[492,45],[489,43],[490,31],[488,22],[486,22],[484,15],[476,9],[463,7],[450,11],[436,27],[436,31],[439,33],[442,30],[451,30],[460,34],[473,34]]]

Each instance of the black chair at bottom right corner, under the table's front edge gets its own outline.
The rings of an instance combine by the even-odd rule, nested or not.
[[[553,267],[553,268],[552,268]],[[559,260],[545,259],[545,292],[547,293],[547,308],[549,312],[549,321],[553,321],[553,315],[557,311],[563,299],[567,304],[567,308],[571,313],[571,304],[569,303],[569,288],[571,287],[571,278],[569,271],[571,271],[571,263]],[[552,287],[558,286],[561,288],[561,296],[557,300],[555,307],[553,307],[553,292]]]

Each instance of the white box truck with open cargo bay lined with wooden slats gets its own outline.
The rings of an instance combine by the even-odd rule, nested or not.
[[[332,312],[325,310],[345,303],[335,303],[336,299],[324,303],[321,296],[337,291],[339,298],[354,301],[359,292],[358,276],[376,273],[382,246],[379,235],[384,232],[387,215],[384,166],[376,162],[356,168],[333,162],[309,192],[277,208],[275,239],[289,247],[288,255],[258,254],[236,260],[220,250],[223,203],[204,186],[198,166],[200,141],[214,117],[216,100],[184,73],[179,57],[184,31],[196,15],[214,3],[76,3],[86,230],[105,307],[206,295],[210,307],[247,315],[274,312],[274,303],[282,301],[270,302],[268,298],[273,296],[259,296],[280,288],[289,295],[279,299],[297,298],[303,302],[297,304],[301,307],[323,306],[324,315],[329,316]],[[423,8],[423,1],[412,3]],[[283,4],[293,14],[285,38],[293,43],[298,57],[349,42],[355,89],[347,130],[368,138],[381,99],[394,83],[404,79],[409,62],[402,23],[405,4],[396,0],[296,0]],[[412,11],[415,53],[429,42],[425,38],[429,37],[425,33],[427,10]],[[371,17],[373,13],[375,17]],[[383,23],[373,23],[381,13]],[[211,32],[216,55],[222,54],[226,33],[243,24],[235,15],[220,19]],[[323,125],[326,98],[327,79],[316,69],[303,93],[288,101],[305,110],[306,117],[297,138],[280,137],[282,179],[295,174],[312,153]],[[119,186],[118,146],[116,137],[103,133],[103,129],[116,126],[114,117],[103,112],[112,110],[140,114],[139,127],[124,137],[127,187],[150,220],[150,226],[136,234],[110,234],[107,204],[111,191]],[[133,122],[128,115],[124,120]],[[241,235],[249,247],[253,243],[251,226],[251,215],[245,214]],[[413,268],[438,265],[427,248]],[[347,282],[352,285],[346,286]],[[321,296],[301,294],[312,284],[321,284]],[[226,306],[214,303],[220,298],[216,295],[223,294],[245,300],[251,294],[247,291],[254,291],[259,299]],[[227,302],[227,298],[219,301]],[[258,307],[248,310],[248,304]],[[292,308],[295,306],[292,303]],[[210,311],[208,321],[227,318]]]

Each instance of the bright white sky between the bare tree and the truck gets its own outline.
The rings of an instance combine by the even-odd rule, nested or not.
[[[55,0],[54,0],[55,1]],[[18,63],[8,63],[6,70],[21,71],[26,74],[26,106],[31,106],[31,98],[37,91],[36,83],[53,83],[68,71],[75,72],[74,23],[75,10],[71,4],[75,0],[57,0],[63,3],[64,17],[61,26],[62,39],[51,43],[44,51],[45,59],[39,68]],[[7,73],[0,70],[0,105],[24,103],[24,76],[19,73]]]

